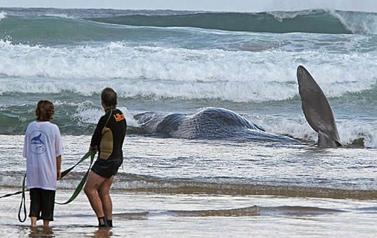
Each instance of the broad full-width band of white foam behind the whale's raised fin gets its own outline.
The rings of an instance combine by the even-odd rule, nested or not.
[[[52,48],[0,40],[0,74],[5,75],[0,94],[91,95],[109,85],[121,97],[280,101],[297,96],[296,68],[310,62],[308,70],[326,95],[342,96],[372,88],[377,72],[366,75],[365,68],[376,60],[374,53],[189,50],[122,42]]]

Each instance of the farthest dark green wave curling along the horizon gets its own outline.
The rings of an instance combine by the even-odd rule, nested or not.
[[[17,17],[19,24],[31,25],[39,18],[38,25],[60,29],[64,19],[70,18],[71,28],[82,27],[83,20],[112,25],[149,27],[196,27],[224,31],[252,32],[307,32],[319,34],[377,34],[377,14],[340,10],[302,10],[275,12],[183,12],[183,11],[132,11],[132,10],[29,10],[4,9],[5,14]],[[9,13],[8,13],[9,12]],[[3,17],[1,17],[3,16]],[[23,16],[21,18],[20,16]],[[55,20],[57,21],[55,21]],[[60,19],[60,21],[59,21]],[[32,21],[29,21],[32,20]],[[44,22],[46,24],[44,24]],[[47,24],[49,23],[49,24]],[[52,25],[51,25],[52,23]],[[55,25],[55,27],[54,27]],[[89,29],[93,26],[87,25]],[[29,27],[26,27],[27,29]],[[101,26],[96,26],[101,30]],[[43,28],[42,31],[48,29]],[[51,29],[50,29],[51,30]]]

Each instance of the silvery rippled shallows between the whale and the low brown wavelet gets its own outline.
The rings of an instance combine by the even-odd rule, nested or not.
[[[0,135],[2,159],[0,185],[19,186],[25,171],[20,151],[22,135]],[[90,136],[63,136],[63,169],[80,159]],[[211,193],[247,194],[254,186],[267,192],[279,189],[313,191],[318,197],[343,191],[341,198],[374,198],[377,190],[377,150],[365,148],[321,149],[315,146],[221,140],[182,140],[130,136],[123,146],[125,161],[119,169],[117,189],[178,189],[202,187]],[[86,162],[87,163],[87,162]],[[79,167],[58,185],[74,187],[86,170]],[[320,188],[320,189],[319,189]],[[321,189],[329,189],[321,194]],[[283,190],[284,190],[283,189]],[[229,190],[229,191],[228,191]],[[369,195],[368,195],[369,194]],[[284,195],[284,194],[277,194]],[[328,195],[331,198],[331,195]],[[335,195],[334,195],[335,196]],[[372,197],[371,197],[372,196]],[[376,196],[377,198],[377,196]]]

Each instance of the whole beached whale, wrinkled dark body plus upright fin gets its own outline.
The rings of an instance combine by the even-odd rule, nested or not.
[[[306,120],[318,132],[318,146],[340,146],[334,115],[321,88],[303,66],[297,68],[297,80]],[[195,114],[149,111],[136,114],[134,119],[140,124],[139,133],[186,139],[302,143],[285,135],[268,133],[236,112],[223,108],[199,109]]]

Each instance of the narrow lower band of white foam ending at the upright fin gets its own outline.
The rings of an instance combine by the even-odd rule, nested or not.
[[[158,81],[12,81],[2,80],[0,94],[23,93],[53,93],[70,91],[83,96],[97,94],[99,88],[112,87],[123,98],[180,98],[180,99],[220,99],[234,102],[271,101],[293,98],[297,94],[295,85],[280,85],[279,83],[161,83]],[[268,94],[265,93],[265,90]]]

